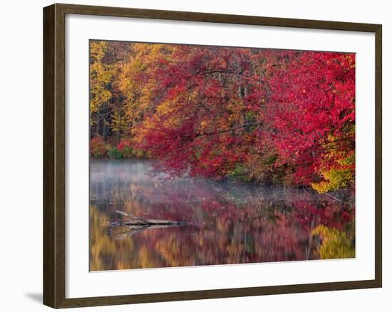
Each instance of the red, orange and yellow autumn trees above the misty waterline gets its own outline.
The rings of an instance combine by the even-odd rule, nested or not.
[[[355,55],[91,41],[91,156],[172,176],[354,184]]]

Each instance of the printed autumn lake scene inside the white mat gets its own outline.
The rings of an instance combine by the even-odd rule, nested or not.
[[[90,41],[92,269],[354,256],[355,71],[355,53]]]

